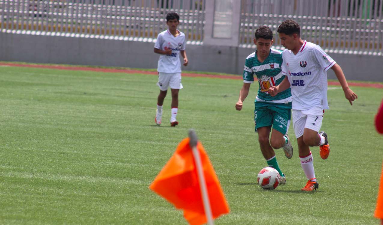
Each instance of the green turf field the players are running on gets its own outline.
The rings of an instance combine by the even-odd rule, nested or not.
[[[216,224],[378,224],[373,218],[383,136],[373,118],[383,89],[328,91],[322,129],[331,154],[311,150],[319,189],[306,183],[295,154],[277,159],[287,184],[261,189],[267,164],[254,134],[254,98],[235,110],[241,80],[183,78],[177,119],[154,123],[157,77],[0,67],[0,224],[187,224],[180,210],[148,186],[194,128],[226,194],[230,214]],[[334,87],[334,86],[331,86]]]

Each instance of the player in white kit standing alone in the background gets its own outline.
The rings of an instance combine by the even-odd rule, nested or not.
[[[178,92],[182,88],[181,84],[181,63],[180,55],[183,58],[183,65],[188,65],[188,58],[185,52],[185,34],[177,30],[180,24],[180,16],[177,13],[170,12],[166,15],[166,24],[169,29],[158,34],[154,45],[154,52],[160,54],[158,60],[158,82],[160,94],[157,97],[157,110],[155,113],[155,123],[161,124],[162,105],[170,86],[172,91],[172,115],[170,117],[170,126],[178,125]]]

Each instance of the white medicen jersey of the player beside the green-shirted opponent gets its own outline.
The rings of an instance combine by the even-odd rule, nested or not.
[[[306,40],[296,55],[285,49],[282,57],[282,73],[291,86],[292,109],[308,110],[315,106],[328,109],[327,70],[336,62],[319,45]]]

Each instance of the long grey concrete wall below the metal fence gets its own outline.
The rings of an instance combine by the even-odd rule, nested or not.
[[[157,68],[154,43],[80,37],[0,33],[0,60],[31,63]],[[187,45],[189,65],[182,70],[242,74],[255,49]],[[383,57],[331,53],[349,80],[383,82]],[[332,70],[329,79],[336,79]]]

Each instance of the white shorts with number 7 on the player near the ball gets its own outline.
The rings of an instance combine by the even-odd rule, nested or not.
[[[293,109],[293,126],[296,138],[303,135],[304,128],[318,132],[322,126],[323,115],[324,109],[321,107],[314,107],[309,110]]]

